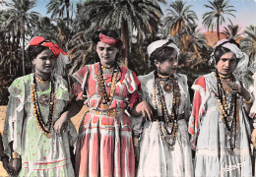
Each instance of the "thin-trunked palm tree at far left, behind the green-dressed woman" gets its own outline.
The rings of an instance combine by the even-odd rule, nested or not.
[[[31,12],[35,6],[34,0],[12,0],[10,3],[6,2],[6,5],[10,8],[8,10],[10,17],[7,20],[7,27],[13,27],[15,36],[19,40],[21,35],[23,38],[23,75],[25,75],[25,31],[31,29],[30,23],[38,19],[39,14]]]

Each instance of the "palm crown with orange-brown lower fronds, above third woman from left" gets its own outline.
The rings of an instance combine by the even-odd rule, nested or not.
[[[181,34],[183,29],[189,28],[195,24],[197,15],[194,11],[191,11],[192,6],[186,6],[186,2],[176,0],[170,3],[169,9],[167,9],[167,17],[164,19],[167,33],[174,35],[176,33]]]

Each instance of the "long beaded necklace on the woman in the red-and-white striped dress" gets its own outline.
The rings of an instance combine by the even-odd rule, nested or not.
[[[101,95],[101,99],[102,99],[102,103],[100,104],[100,109],[101,110],[106,110],[109,105],[110,102],[112,100],[112,97],[114,95],[115,92],[115,85],[117,82],[117,74],[118,74],[118,70],[116,67],[114,67],[113,69],[113,73],[112,73],[112,79],[111,79],[111,88],[110,88],[110,93],[109,96],[107,95],[106,89],[105,89],[105,81],[104,81],[104,77],[103,77],[103,71],[102,69],[104,69],[104,67],[99,63],[99,67],[98,67],[98,74],[96,76],[96,81],[97,81],[97,85],[99,87],[99,94]]]

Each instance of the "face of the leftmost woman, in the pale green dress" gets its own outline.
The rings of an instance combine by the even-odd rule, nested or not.
[[[35,73],[50,74],[54,68],[56,58],[50,49],[43,50],[33,60]]]

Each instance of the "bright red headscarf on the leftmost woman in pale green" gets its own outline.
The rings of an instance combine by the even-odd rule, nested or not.
[[[49,40],[46,40],[45,38],[43,38],[42,36],[35,36],[32,38],[30,45],[32,46],[39,46],[39,45],[43,45],[45,47],[48,47],[52,53],[54,54],[54,56],[56,58],[58,58],[60,53],[63,53],[64,55],[67,55],[67,53],[65,53],[58,44],[54,44]]]

